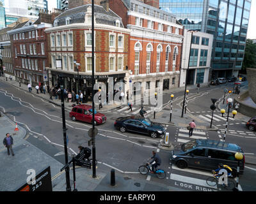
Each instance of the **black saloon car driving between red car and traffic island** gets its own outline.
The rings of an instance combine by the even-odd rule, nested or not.
[[[141,117],[140,115],[118,117],[114,123],[114,126],[122,133],[125,131],[131,131],[134,133],[149,135],[152,138],[164,136],[166,133],[165,128],[161,124],[152,122],[145,117]]]

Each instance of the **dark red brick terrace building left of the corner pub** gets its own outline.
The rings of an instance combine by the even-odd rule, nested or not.
[[[28,20],[8,31],[12,45],[13,71],[22,83],[44,83],[47,63],[45,29],[52,27],[52,14],[40,13],[38,20]]]

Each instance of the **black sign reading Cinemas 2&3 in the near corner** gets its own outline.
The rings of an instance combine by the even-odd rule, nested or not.
[[[48,166],[45,170],[36,175],[35,183],[24,184],[16,191],[52,191],[51,168]]]

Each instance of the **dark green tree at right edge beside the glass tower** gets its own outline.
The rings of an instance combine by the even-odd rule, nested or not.
[[[246,68],[256,68],[256,43],[253,44],[253,41],[250,39],[246,40],[241,72],[246,72]]]

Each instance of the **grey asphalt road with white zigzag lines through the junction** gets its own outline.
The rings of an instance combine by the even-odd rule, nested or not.
[[[190,112],[192,110],[194,112],[209,110],[210,99],[221,98],[224,87],[225,85],[200,88],[200,92],[205,95],[189,101],[188,110]],[[180,98],[179,101],[182,101],[183,91],[175,92],[174,94],[176,98]],[[191,96],[196,94],[196,90],[189,91],[189,94]],[[164,94],[163,103],[169,103],[169,95]],[[19,122],[19,124],[24,124],[24,128],[29,132],[26,140],[64,164],[62,119],[59,106],[52,105],[28,92],[20,91],[17,87],[0,82],[0,107],[4,108],[11,119]],[[110,168],[115,168],[117,171],[127,173],[132,177],[145,178],[167,186],[180,187],[184,190],[205,191],[204,181],[209,172],[193,169],[179,170],[175,165],[170,164],[170,152],[157,147],[161,138],[152,139],[144,135],[120,133],[113,126],[113,122],[117,117],[121,116],[120,114],[106,112],[107,122],[96,126],[99,129],[99,134],[96,137],[96,157],[97,161],[99,161],[98,169],[100,171],[109,171]],[[92,128],[92,125],[72,121],[68,112],[66,112],[65,117],[68,128],[68,153],[71,155],[77,152],[78,145],[87,146],[88,140],[90,140],[87,132],[88,129]],[[221,124],[221,122],[217,124]],[[244,128],[243,124],[232,126],[232,129],[236,131],[241,131],[242,128]],[[171,142],[174,144],[180,143],[179,135],[184,130],[173,126],[166,126],[166,129],[167,132],[173,135],[170,137]],[[244,131],[248,130],[244,128]],[[220,134],[215,131],[202,131],[198,136],[219,140],[220,137],[218,135]],[[185,135],[186,133],[182,136]],[[255,137],[253,136],[246,135],[245,137],[236,132],[232,135],[227,134],[226,141],[240,144],[244,152],[250,155],[256,154],[254,148]],[[155,175],[145,177],[138,174],[138,166],[151,156],[152,150],[157,150],[162,158],[161,168],[166,170],[166,179],[159,180]],[[255,176],[255,166],[249,165],[240,180],[244,191],[256,190],[255,179],[252,179]],[[215,190],[209,187],[205,188],[207,191]]]

